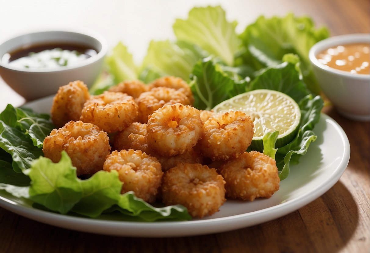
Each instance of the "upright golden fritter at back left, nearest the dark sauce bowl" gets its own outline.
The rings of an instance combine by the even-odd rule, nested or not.
[[[51,106],[51,119],[56,127],[65,123],[78,121],[86,100],[90,97],[87,86],[82,81],[70,82],[59,87]]]

